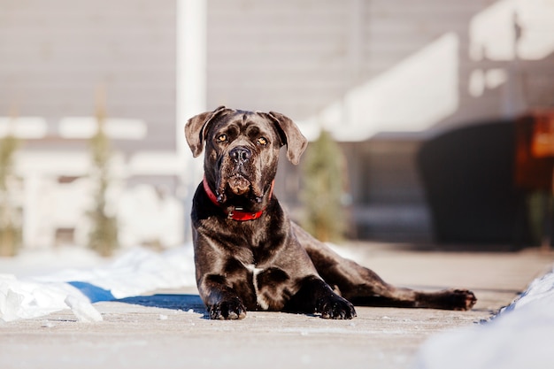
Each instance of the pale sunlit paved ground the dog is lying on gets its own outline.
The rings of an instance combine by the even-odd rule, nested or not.
[[[554,253],[350,247],[386,281],[413,288],[471,288],[473,311],[360,308],[353,320],[249,312],[239,321],[204,318],[195,288],[97,303],[104,321],[70,311],[0,324],[0,367],[9,368],[406,368],[431,334],[471,326],[510,304]]]

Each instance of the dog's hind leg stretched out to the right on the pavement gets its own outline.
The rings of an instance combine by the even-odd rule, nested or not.
[[[396,288],[377,273],[342,258],[335,251],[313,239],[295,226],[296,237],[312,258],[319,275],[340,295],[353,304],[365,306],[413,307],[447,310],[469,310],[477,299],[466,289],[444,289],[437,292]]]

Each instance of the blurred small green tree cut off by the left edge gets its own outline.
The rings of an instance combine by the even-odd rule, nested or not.
[[[21,227],[18,211],[12,204],[11,181],[14,179],[13,156],[19,148],[19,140],[5,135],[0,140],[0,256],[14,256],[21,243]]]

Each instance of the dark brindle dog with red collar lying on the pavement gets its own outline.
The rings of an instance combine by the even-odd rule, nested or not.
[[[195,158],[205,147],[191,219],[196,283],[211,319],[247,311],[352,319],[353,304],[465,311],[477,301],[466,289],[391,286],[291,221],[273,181],[281,148],[297,165],[307,140],[281,113],[220,106],[189,119],[185,136]]]

